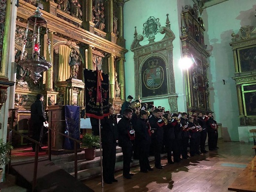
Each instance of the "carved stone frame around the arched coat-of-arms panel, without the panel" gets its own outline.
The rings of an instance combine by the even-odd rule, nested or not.
[[[168,21],[168,17],[167,17]],[[149,44],[141,46],[140,41],[143,40],[142,35],[138,35],[135,31],[134,40],[131,44],[131,51],[134,52],[134,76],[135,76],[135,96],[140,96],[141,99],[148,99],[148,98],[159,98],[165,97],[169,100],[174,100],[176,102],[175,109],[172,108],[174,111],[178,111],[177,108],[177,94],[175,93],[175,81],[174,81],[174,71],[173,71],[173,39],[175,38],[174,33],[170,30],[170,26],[168,22],[166,22],[166,27],[160,27],[159,32],[161,34],[165,34],[165,36],[158,42],[150,40]],[[157,96],[147,96],[144,97],[142,95],[142,84],[141,81],[142,77],[142,65],[147,61],[149,58],[156,57],[160,58],[165,63],[166,70],[166,80],[167,80],[167,91],[166,94],[157,95]],[[174,96],[174,99],[170,99],[169,97]],[[173,103],[173,102],[170,102]]]

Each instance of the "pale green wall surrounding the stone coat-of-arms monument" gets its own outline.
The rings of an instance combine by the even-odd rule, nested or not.
[[[180,42],[180,13],[182,6],[192,3],[192,0],[129,0],[124,6],[124,36],[126,48],[129,52],[126,54],[125,75],[126,75],[126,95],[134,96],[134,62],[133,52],[130,51],[130,45],[134,39],[134,27],[137,27],[137,33],[142,35],[143,24],[150,16],[160,19],[161,26],[165,26],[166,14],[169,14],[171,30],[175,34],[173,40],[173,64],[175,74],[175,90],[178,94],[178,110],[185,111],[184,103],[184,83],[182,70],[178,66],[181,58],[181,42]],[[162,34],[156,35],[155,41],[163,38]],[[141,45],[148,44],[147,38],[141,42]],[[137,97],[137,96],[135,96]],[[155,105],[164,106],[168,110],[169,103],[166,98],[154,99]]]

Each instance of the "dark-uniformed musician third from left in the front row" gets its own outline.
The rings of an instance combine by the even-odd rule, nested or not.
[[[152,171],[153,168],[150,167],[148,156],[149,147],[151,143],[151,128],[148,123],[148,113],[145,110],[141,110],[139,113],[139,119],[134,127],[136,132],[135,142],[138,144],[139,151],[139,165],[140,172],[147,173],[148,170]]]

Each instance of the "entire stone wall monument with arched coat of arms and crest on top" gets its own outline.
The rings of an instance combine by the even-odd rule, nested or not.
[[[134,52],[135,95],[143,101],[168,98],[171,112],[178,111],[173,71],[173,39],[168,14],[166,26],[160,26],[159,18],[150,16],[143,24],[143,34],[148,38],[147,45],[140,45],[144,37],[137,34],[136,27],[131,51]],[[155,42],[155,35],[162,39]],[[160,34],[159,34],[160,35]],[[138,82],[138,83],[137,83]]]

